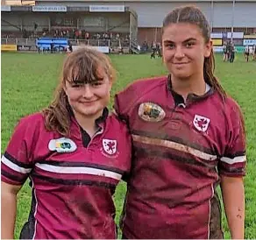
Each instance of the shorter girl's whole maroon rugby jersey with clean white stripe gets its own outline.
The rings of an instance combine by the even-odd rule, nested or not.
[[[21,238],[117,237],[112,194],[130,170],[131,137],[107,109],[96,123],[100,130],[89,143],[74,117],[70,138],[46,131],[41,114],[18,124],[2,158],[2,180],[32,181],[32,208]]]

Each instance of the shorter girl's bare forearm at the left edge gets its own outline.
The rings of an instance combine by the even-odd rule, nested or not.
[[[3,193],[1,196],[1,238],[13,239],[16,219],[17,195]]]

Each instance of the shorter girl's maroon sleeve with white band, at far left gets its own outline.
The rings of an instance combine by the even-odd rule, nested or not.
[[[1,180],[22,185],[32,171],[32,124],[22,119],[16,126],[1,159]]]

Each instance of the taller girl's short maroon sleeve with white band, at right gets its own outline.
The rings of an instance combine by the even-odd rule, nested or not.
[[[237,103],[231,107],[230,119],[228,145],[226,145],[224,156],[220,158],[218,171],[226,176],[242,177],[245,176],[246,164],[245,124]]]

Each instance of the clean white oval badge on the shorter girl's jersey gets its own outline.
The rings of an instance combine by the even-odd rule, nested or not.
[[[56,152],[75,152],[77,146],[69,138],[58,138],[52,139],[48,144],[48,148],[50,151]]]

